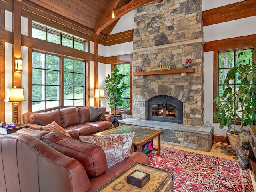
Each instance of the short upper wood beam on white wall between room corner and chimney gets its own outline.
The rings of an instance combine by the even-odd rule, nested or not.
[[[107,46],[133,41],[133,30],[107,36]]]

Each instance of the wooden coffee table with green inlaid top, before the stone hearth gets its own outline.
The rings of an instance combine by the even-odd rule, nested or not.
[[[152,130],[146,128],[136,128],[127,125],[122,125],[119,127],[115,127],[106,131],[102,131],[99,133],[94,134],[94,136],[104,136],[109,134],[122,134],[122,133],[130,133],[135,132],[135,135],[132,140],[132,148],[131,153],[134,152],[135,146],[137,147],[137,151],[142,151],[142,145],[146,144],[150,140],[152,141],[153,148],[155,147],[155,138],[157,137],[157,148],[154,150],[157,151],[157,154],[160,155],[161,149],[161,133],[160,130]]]

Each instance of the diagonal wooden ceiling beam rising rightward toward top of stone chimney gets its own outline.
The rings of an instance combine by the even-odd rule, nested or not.
[[[149,2],[152,2],[153,0],[133,0],[129,3],[127,3],[126,5],[122,6],[121,8],[119,8],[118,10],[115,11],[115,18],[111,17],[111,12],[107,13],[106,11],[106,16],[104,14],[105,17],[102,17],[102,19],[100,20],[99,24],[97,25],[97,27],[95,28],[95,34],[98,35],[100,34],[100,32],[106,28],[107,26],[109,26],[112,22],[114,22],[115,20],[118,20],[120,17],[122,17],[123,15],[125,15],[126,13],[144,5],[147,4]],[[112,11],[112,9],[110,10]]]

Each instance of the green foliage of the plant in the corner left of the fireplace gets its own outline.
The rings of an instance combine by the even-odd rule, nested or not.
[[[122,106],[123,104],[123,92],[127,88],[126,84],[124,84],[123,75],[118,73],[119,69],[114,68],[111,70],[110,75],[107,76],[105,80],[105,89],[108,90],[106,100],[109,101],[109,105],[111,109],[114,109],[114,115],[116,115],[116,107]]]

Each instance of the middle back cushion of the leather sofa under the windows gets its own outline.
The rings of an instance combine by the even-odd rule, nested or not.
[[[60,109],[63,128],[80,124],[81,119],[76,107],[67,107]]]

